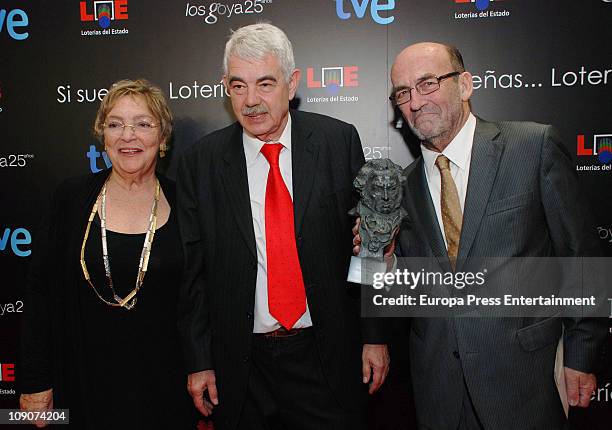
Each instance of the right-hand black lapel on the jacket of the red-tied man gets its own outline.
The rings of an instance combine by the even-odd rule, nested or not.
[[[315,177],[319,141],[312,128],[306,128],[298,112],[291,111],[291,171],[295,234],[299,235]]]

